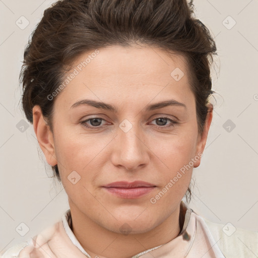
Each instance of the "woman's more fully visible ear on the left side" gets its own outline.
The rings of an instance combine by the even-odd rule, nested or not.
[[[49,165],[54,166],[57,164],[53,134],[50,127],[44,120],[40,106],[36,105],[32,109],[33,113],[33,128],[38,139],[39,146],[43,151],[46,161]]]

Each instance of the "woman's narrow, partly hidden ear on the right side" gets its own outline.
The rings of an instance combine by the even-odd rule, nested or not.
[[[200,153],[204,152],[204,148],[205,148],[207,137],[208,137],[208,132],[209,132],[210,125],[212,122],[212,116],[213,116],[213,105],[209,103],[208,104],[208,113],[206,116],[203,134],[198,137],[198,143],[197,143],[197,149],[196,149],[196,156],[198,156],[198,157],[200,157],[199,156]],[[199,155],[198,155],[198,153],[199,153]],[[197,161],[195,161],[193,167],[199,167],[200,163],[201,163],[201,158],[198,159]]]

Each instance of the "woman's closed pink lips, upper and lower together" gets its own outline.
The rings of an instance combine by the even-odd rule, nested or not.
[[[147,195],[156,186],[145,181],[117,181],[103,186],[111,194],[124,199],[136,199]]]

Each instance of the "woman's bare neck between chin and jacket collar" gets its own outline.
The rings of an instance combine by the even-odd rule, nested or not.
[[[72,231],[89,255],[99,258],[130,258],[142,251],[165,244],[181,231],[180,205],[160,225],[141,234],[123,235],[92,221],[70,200]],[[180,228],[181,227],[181,228]]]

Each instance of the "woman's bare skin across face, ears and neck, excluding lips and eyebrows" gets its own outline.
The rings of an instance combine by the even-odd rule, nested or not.
[[[191,158],[203,153],[212,121],[212,105],[204,132],[198,134],[195,96],[184,57],[169,56],[154,47],[109,46],[88,63],[54,100],[53,133],[39,106],[33,108],[33,125],[39,145],[51,166],[58,164],[68,194],[73,232],[83,248],[95,257],[125,258],[167,243],[180,232],[180,202],[189,185],[192,168],[155,204],[155,197]],[[76,66],[90,53],[83,53]],[[180,68],[184,76],[170,73]],[[90,105],[71,106],[83,99],[112,104],[117,112]],[[170,105],[145,111],[147,105],[174,99],[185,107]],[[178,123],[170,127],[169,119]],[[91,130],[82,123],[88,120]],[[124,133],[119,124],[133,125]],[[97,124],[97,125],[96,125]],[[160,127],[158,127],[160,126]],[[81,179],[68,179],[76,171]],[[102,186],[115,181],[153,183],[147,195],[124,199]],[[120,228],[129,225],[129,234]],[[90,232],[90,233],[89,233]]]

